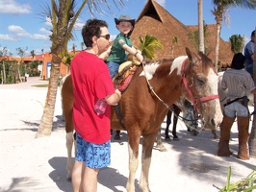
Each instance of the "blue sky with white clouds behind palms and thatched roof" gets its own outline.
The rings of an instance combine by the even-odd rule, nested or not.
[[[80,2],[80,0],[77,0]],[[197,25],[197,0],[156,0],[167,12],[172,14],[185,25]],[[16,48],[25,49],[28,47],[26,55],[30,55],[32,50],[36,54],[41,53],[41,49],[49,51],[51,41],[49,40],[49,30],[51,26],[46,21],[42,7],[50,5],[50,0],[0,0],[0,48],[7,47],[8,54],[16,56]],[[109,1],[109,2],[112,2]],[[117,2],[117,0],[115,0]],[[115,29],[114,18],[120,14],[130,14],[132,18],[137,18],[141,13],[146,0],[123,0],[125,7],[112,6],[112,12],[105,10],[106,14],[95,13],[95,17],[106,20],[109,24],[110,34],[115,37],[118,31]],[[216,23],[212,14],[212,0],[203,0],[203,16],[206,24]],[[250,38],[251,32],[256,27],[256,10],[245,8],[230,8],[228,11],[229,23],[222,23],[220,36],[228,41],[229,36],[245,36],[245,42]],[[70,50],[73,43],[77,49],[81,49],[81,28],[87,19],[91,18],[90,12],[85,11],[77,21],[75,41],[68,43]]]

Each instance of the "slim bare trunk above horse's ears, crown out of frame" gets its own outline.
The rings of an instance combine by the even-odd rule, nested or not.
[[[203,0],[198,0],[199,51],[204,53]]]

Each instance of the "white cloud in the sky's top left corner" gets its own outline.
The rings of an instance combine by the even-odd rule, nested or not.
[[[0,13],[30,13],[31,7],[29,4],[20,4],[15,0],[0,0]]]

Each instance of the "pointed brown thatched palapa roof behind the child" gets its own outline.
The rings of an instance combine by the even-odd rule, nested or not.
[[[207,39],[209,50],[215,51],[216,45],[216,24],[207,25]],[[171,58],[172,38],[176,36],[178,43],[174,45],[173,57],[186,55],[185,48],[189,47],[196,52],[195,46],[192,44],[189,34],[192,31],[197,31],[197,26],[186,26],[178,19],[167,12],[154,0],[148,0],[136,20],[135,29],[131,35],[133,44],[139,45],[139,36],[156,36],[164,49],[156,52],[154,60],[163,60]],[[233,53],[230,49],[230,42],[226,42],[220,38],[219,40],[219,57],[218,60],[222,64],[230,63],[233,58]]]

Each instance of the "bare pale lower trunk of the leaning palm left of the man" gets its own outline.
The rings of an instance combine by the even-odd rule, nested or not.
[[[62,60],[58,58],[56,54],[52,55],[52,65],[50,81],[48,84],[48,92],[45,100],[45,106],[43,108],[43,114],[41,117],[40,125],[38,127],[38,132],[36,134],[36,138],[42,136],[49,136],[52,132],[56,96],[60,77],[61,61]]]

